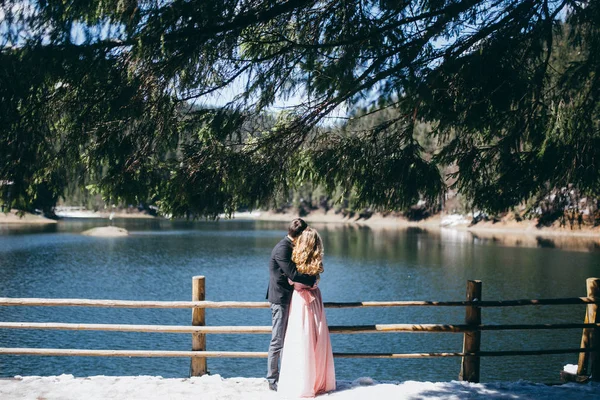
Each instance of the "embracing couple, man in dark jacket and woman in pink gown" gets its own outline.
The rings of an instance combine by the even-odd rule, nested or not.
[[[322,272],[321,237],[304,220],[294,219],[271,253],[267,290],[273,323],[267,380],[270,389],[286,397],[335,390],[329,328],[317,286]]]

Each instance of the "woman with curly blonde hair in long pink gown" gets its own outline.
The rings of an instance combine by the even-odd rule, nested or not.
[[[316,275],[310,287],[291,282],[294,293],[283,343],[277,392],[285,397],[315,397],[335,390],[335,368],[321,291],[323,242],[316,230],[306,228],[294,242],[292,261],[299,272]]]

